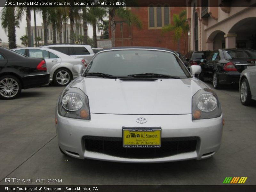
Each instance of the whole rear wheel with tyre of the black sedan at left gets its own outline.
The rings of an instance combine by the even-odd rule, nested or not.
[[[5,100],[15,99],[20,95],[20,80],[11,75],[0,77],[0,98]]]

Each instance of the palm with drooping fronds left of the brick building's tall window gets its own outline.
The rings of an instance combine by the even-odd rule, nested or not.
[[[110,28],[112,36],[112,47],[115,47],[115,34],[116,34],[116,22],[115,16],[127,21],[128,25],[135,24],[137,28],[142,28],[142,22],[139,17],[133,14],[126,7],[108,7],[108,14],[110,18]]]

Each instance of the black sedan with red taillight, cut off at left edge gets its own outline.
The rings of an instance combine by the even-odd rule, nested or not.
[[[28,58],[10,49],[0,47],[0,98],[9,100],[28,89],[49,83],[44,59]]]

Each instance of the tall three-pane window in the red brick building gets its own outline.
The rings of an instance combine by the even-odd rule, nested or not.
[[[148,7],[148,28],[161,29],[170,24],[170,7]]]

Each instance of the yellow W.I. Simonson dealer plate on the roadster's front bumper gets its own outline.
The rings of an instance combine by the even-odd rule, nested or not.
[[[161,147],[161,128],[124,128],[123,147],[159,148]]]

